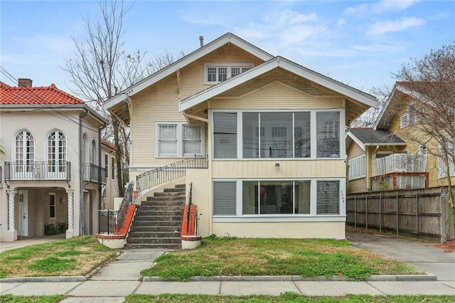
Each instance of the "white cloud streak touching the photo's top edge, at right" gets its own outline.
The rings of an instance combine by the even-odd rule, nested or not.
[[[374,3],[359,4],[349,7],[343,11],[343,15],[365,16],[370,14],[384,14],[388,12],[405,11],[410,6],[416,4],[418,0],[390,1],[382,0]]]

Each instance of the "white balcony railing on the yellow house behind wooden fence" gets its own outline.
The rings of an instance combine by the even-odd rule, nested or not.
[[[373,176],[392,173],[420,173],[427,171],[427,155],[391,154],[373,161]]]

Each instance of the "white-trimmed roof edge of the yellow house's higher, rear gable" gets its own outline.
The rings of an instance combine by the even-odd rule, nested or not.
[[[273,56],[269,53],[260,48],[257,48],[256,46],[253,46],[251,43],[248,43],[247,41],[235,36],[233,33],[225,33],[225,35],[220,36],[219,38],[211,41],[210,43],[207,43],[205,46],[202,46],[197,50],[194,50],[192,53],[189,53],[180,60],[171,63],[170,65],[166,66],[166,68],[163,68],[156,73],[149,75],[149,77],[145,78],[144,80],[141,80],[138,83],[128,87],[126,90],[119,92],[119,94],[110,98],[103,104],[103,109],[107,110],[110,107],[117,105],[119,102],[123,102],[127,97],[135,95],[138,92],[141,92],[141,90],[145,90],[150,85],[157,83],[159,80],[166,78],[172,73],[176,73],[177,70],[184,68],[186,65],[193,63],[194,61],[202,58],[208,53],[211,53],[213,50],[220,48],[226,43],[232,43],[235,46],[246,50],[252,55],[257,56],[257,58],[261,58],[262,60],[269,60],[270,58],[273,58]]]

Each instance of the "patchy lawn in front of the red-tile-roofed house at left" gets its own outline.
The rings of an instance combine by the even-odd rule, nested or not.
[[[119,253],[93,235],[0,252],[0,278],[86,275]]]

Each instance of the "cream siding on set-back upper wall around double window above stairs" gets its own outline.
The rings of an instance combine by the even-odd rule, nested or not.
[[[210,85],[203,85],[204,63],[223,62],[259,65],[263,61],[237,46],[226,44],[179,70],[180,91],[176,72],[132,98],[130,126],[133,144],[130,151],[130,166],[164,166],[182,159],[156,157],[155,122],[185,122],[185,117],[178,112],[178,103],[186,97],[210,87]],[[205,124],[205,152],[207,153],[207,151],[208,132],[207,124]]]

